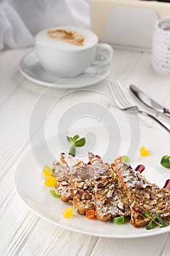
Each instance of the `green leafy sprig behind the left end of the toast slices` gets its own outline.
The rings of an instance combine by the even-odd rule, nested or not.
[[[72,144],[69,148],[69,154],[73,157],[76,155],[76,147],[85,146],[85,138],[80,138],[80,135],[74,135],[74,137],[66,136],[66,139]]]

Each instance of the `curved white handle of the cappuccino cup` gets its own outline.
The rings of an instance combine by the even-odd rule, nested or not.
[[[98,43],[96,54],[99,53],[101,50],[107,51],[107,53],[108,53],[107,59],[104,58],[103,60],[101,59],[99,61],[93,61],[93,63],[92,63],[93,67],[104,66],[112,60],[112,56],[113,56],[113,52],[114,52],[112,46],[110,46],[108,44],[104,44],[104,43]]]

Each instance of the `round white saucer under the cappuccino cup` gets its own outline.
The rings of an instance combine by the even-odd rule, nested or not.
[[[97,60],[106,58],[101,53],[96,56]],[[38,83],[42,86],[54,86],[61,89],[78,89],[85,86],[92,86],[95,83],[100,82],[109,75],[111,64],[104,65],[95,69],[89,67],[81,75],[77,75],[72,78],[58,78],[50,72],[47,72],[36,57],[36,53],[31,51],[23,56],[20,61],[21,74],[31,80],[31,82]]]

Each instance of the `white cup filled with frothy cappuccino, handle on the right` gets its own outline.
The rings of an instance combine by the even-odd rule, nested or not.
[[[94,61],[101,50],[107,51],[107,58]],[[112,47],[98,43],[96,34],[76,26],[40,31],[36,34],[35,51],[42,67],[61,78],[78,75],[90,66],[108,64],[113,55]]]

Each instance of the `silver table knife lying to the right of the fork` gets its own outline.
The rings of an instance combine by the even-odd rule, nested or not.
[[[136,86],[131,85],[130,89],[136,96],[136,98],[139,99],[144,105],[154,110],[157,110],[159,113],[165,113],[170,116],[170,110],[168,108],[164,108],[158,102],[155,102],[154,99],[150,98],[147,94],[139,90]]]

